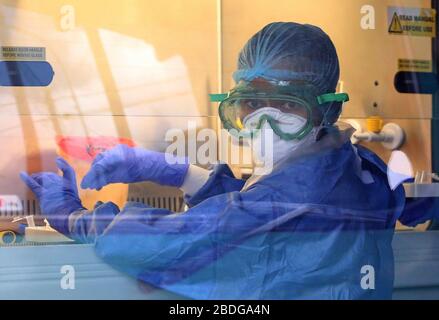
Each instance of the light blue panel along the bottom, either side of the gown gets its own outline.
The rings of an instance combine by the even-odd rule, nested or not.
[[[398,232],[393,249],[393,298],[439,299],[439,231]],[[0,299],[180,298],[112,269],[91,245],[0,248]]]

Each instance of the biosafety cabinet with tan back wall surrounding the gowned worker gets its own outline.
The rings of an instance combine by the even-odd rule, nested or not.
[[[338,91],[350,95],[340,121],[356,129],[353,142],[386,163],[403,157],[403,173],[415,181],[408,196],[439,196],[438,8],[436,0],[0,0],[0,298],[177,298],[113,270],[91,245],[46,241],[44,232],[54,233],[19,173],[55,172],[62,156],[80,181],[116,144],[165,151],[170,130],[219,133],[209,94],[233,87],[239,50],[273,21],[329,34]],[[232,169],[246,176],[252,164]],[[90,208],[131,200],[184,211],[179,191],[150,183],[80,196]],[[33,237],[9,230],[29,216]],[[439,299],[435,228],[398,226],[394,298]],[[65,278],[72,270],[74,288]]]

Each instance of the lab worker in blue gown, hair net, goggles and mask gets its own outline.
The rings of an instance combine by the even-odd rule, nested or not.
[[[389,299],[395,224],[414,226],[432,211],[406,201],[402,186],[392,191],[386,164],[336,123],[348,100],[336,93],[339,72],[321,29],[271,23],[241,50],[236,87],[213,96],[231,134],[272,143],[268,174],[243,181],[225,164],[170,164],[164,153],[119,145],[81,182],[179,187],[184,213],[112,202],[87,210],[61,158],[62,176],[21,177],[52,227],[153,287],[197,299]]]

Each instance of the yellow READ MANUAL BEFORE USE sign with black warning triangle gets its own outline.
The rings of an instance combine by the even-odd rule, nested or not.
[[[390,34],[435,37],[436,10],[430,8],[387,8]]]

